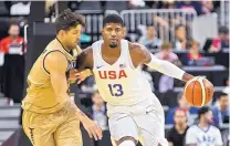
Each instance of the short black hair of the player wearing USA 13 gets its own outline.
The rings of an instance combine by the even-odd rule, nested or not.
[[[124,27],[122,17],[115,13],[108,14],[103,19],[103,27],[105,27],[107,23],[119,23],[122,27]]]

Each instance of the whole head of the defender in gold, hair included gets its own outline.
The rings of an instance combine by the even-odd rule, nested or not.
[[[84,27],[83,17],[64,10],[55,20],[56,35],[62,40],[63,45],[74,49],[80,40],[82,27]]]

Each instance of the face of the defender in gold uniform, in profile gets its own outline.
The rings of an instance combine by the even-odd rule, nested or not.
[[[76,44],[80,41],[82,33],[82,25],[77,24],[76,27],[71,28],[65,32],[65,42],[70,49],[75,49]]]

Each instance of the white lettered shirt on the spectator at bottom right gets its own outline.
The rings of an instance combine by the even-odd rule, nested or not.
[[[191,126],[186,134],[186,144],[196,144],[196,146],[217,146],[222,145],[220,131],[209,125],[207,129],[198,125]]]

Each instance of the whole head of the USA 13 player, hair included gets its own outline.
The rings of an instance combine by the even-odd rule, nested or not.
[[[118,14],[108,14],[103,20],[103,40],[109,48],[115,49],[125,35],[123,19]]]

